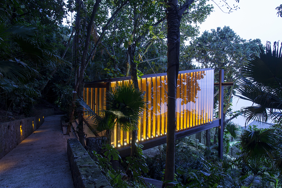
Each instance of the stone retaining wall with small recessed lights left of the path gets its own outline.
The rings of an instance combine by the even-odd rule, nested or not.
[[[42,110],[42,114],[22,120],[0,123],[0,159],[44,122],[44,117],[54,114],[54,109]]]

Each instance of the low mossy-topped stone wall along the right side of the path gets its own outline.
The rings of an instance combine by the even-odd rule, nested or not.
[[[67,154],[75,188],[112,188],[76,138],[68,139]]]

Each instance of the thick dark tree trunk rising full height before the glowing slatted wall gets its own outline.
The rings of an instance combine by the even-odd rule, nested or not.
[[[176,88],[179,71],[179,49],[180,49],[180,19],[178,12],[178,1],[172,0],[168,3],[168,121],[166,137],[166,170],[164,180],[174,180],[175,163],[175,128],[176,128]],[[169,184],[166,184],[167,187]]]

